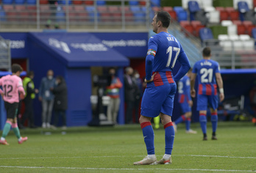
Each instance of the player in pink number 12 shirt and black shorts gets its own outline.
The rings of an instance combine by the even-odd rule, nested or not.
[[[19,77],[22,72],[22,67],[20,65],[13,64],[12,72],[13,75],[7,75],[0,78],[0,86],[3,87],[3,90],[0,89],[0,93],[4,99],[4,107],[7,111],[7,121],[4,125],[4,130],[0,139],[0,144],[4,145],[9,145],[5,140],[5,137],[8,135],[11,127],[13,128],[15,136],[18,138],[18,144],[22,144],[27,140],[27,137],[21,137],[17,124],[19,97],[23,99],[25,95],[22,81]]]

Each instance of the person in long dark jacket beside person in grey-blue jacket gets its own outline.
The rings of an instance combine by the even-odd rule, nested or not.
[[[51,90],[54,93],[54,125],[57,127],[59,117],[61,116],[63,119],[63,130],[65,130],[65,110],[68,108],[68,91],[62,76],[56,77],[56,86]]]

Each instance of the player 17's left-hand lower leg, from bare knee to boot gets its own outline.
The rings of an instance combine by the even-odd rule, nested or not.
[[[154,164],[157,161],[157,158],[154,154],[154,130],[150,122],[151,119],[151,117],[144,117],[143,115],[141,115],[139,119],[148,155],[146,156],[146,158],[143,158],[142,161],[133,163],[135,165]]]

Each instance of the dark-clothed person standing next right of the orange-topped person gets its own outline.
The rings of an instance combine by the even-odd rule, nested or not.
[[[125,69],[124,75],[124,99],[127,103],[127,110],[125,114],[125,122],[127,124],[132,124],[132,111],[135,107],[135,95],[137,90],[137,85],[135,78],[132,77],[133,69],[132,67],[127,67]]]

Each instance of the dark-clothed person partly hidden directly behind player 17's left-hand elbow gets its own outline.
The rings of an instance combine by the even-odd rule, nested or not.
[[[143,95],[143,82],[140,78],[140,73],[138,70],[134,70],[133,76],[135,78],[136,92],[135,92],[135,122],[138,123],[139,115],[141,114],[140,105],[141,105],[141,97]]]

